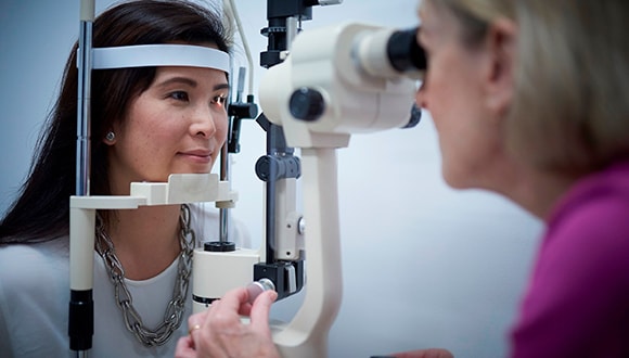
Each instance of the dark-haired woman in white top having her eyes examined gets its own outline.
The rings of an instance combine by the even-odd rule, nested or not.
[[[216,9],[139,0],[98,16],[93,47],[191,44],[226,53],[231,31]],[[62,357],[69,350],[69,197],[76,181],[77,46],[21,194],[0,222],[0,351]],[[224,71],[197,66],[94,69],[93,195],[129,195],[130,183],[209,172],[228,130]],[[195,234],[184,234],[188,229]],[[231,238],[248,241],[235,227]],[[218,232],[203,204],[98,210],[95,357],[172,356],[191,314],[187,253]],[[188,263],[189,264],[189,263]],[[184,304],[179,304],[184,303]]]

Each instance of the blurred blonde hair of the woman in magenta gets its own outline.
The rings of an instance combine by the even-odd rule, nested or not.
[[[506,143],[518,157],[574,174],[629,157],[629,1],[424,1],[450,10],[467,44],[498,18],[517,24]]]

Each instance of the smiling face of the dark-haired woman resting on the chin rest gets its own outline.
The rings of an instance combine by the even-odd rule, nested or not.
[[[227,137],[228,91],[221,71],[158,67],[153,84],[131,101],[115,130],[110,180],[125,190],[129,181],[209,172]]]

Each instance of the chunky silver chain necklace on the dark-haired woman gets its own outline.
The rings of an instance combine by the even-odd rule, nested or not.
[[[116,304],[123,312],[127,330],[133,333],[136,338],[146,347],[161,346],[168,342],[172,332],[181,325],[183,319],[190,273],[192,271],[192,253],[196,244],[194,230],[190,228],[190,207],[185,204],[181,205],[179,225],[181,226],[181,231],[179,232],[181,252],[177,266],[177,281],[175,281],[172,289],[172,298],[164,312],[164,321],[157,328],[151,330],[144,325],[142,317],[133,307],[133,297],[131,297],[131,293],[125,283],[125,269],[116,256],[112,238],[105,232],[102,218],[97,214],[97,252],[101,255],[105,268],[110,271],[110,280],[114,285]],[[190,236],[190,240],[188,240],[188,236]]]

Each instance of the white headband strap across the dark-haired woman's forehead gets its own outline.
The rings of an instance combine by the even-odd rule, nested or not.
[[[94,48],[92,68],[128,68],[147,66],[192,66],[229,73],[227,52],[191,44],[134,44]]]

